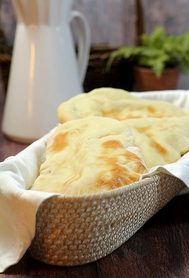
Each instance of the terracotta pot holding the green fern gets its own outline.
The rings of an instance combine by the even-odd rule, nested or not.
[[[150,68],[134,67],[134,78],[138,91],[174,90],[177,88],[179,67],[167,68],[157,78]]]

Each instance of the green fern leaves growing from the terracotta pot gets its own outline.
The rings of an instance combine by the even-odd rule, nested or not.
[[[134,57],[136,64],[152,68],[156,77],[161,77],[165,68],[180,66],[189,72],[189,32],[181,36],[167,36],[164,27],[156,25],[150,35],[140,36],[140,46],[123,46],[112,52],[106,71],[118,56],[128,59]]]

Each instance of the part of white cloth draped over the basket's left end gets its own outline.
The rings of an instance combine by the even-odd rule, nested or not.
[[[22,258],[35,235],[40,204],[57,195],[27,190],[38,176],[53,131],[0,163],[0,273]]]

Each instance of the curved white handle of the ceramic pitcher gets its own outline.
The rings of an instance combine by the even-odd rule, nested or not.
[[[78,22],[78,66],[81,83],[83,84],[88,66],[91,47],[91,32],[87,18],[79,11],[71,11],[70,21],[76,19]]]

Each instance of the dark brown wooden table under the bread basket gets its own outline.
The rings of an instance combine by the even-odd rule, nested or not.
[[[0,101],[2,117],[3,101]],[[0,122],[1,122],[0,117]],[[27,145],[8,141],[0,132],[0,161]],[[125,244],[96,262],[58,267],[40,263],[28,251],[3,277],[189,277],[189,194],[162,208]]]

